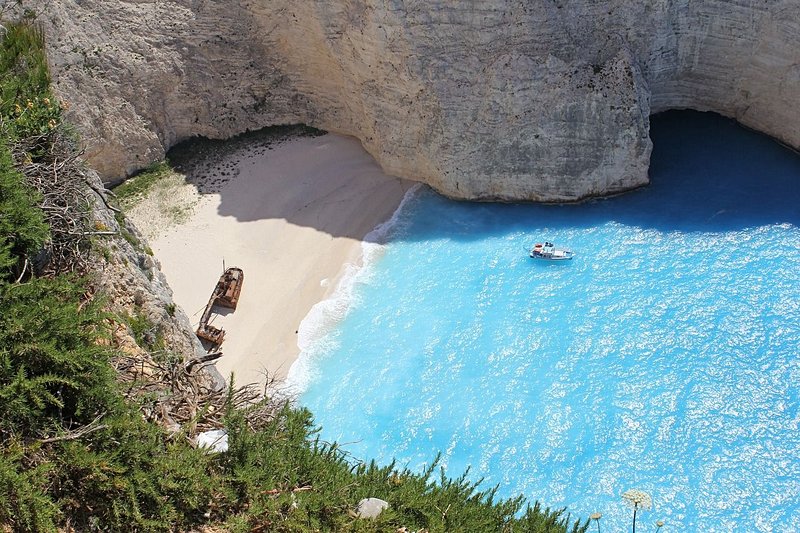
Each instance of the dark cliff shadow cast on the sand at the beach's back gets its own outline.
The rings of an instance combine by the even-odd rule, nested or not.
[[[352,137],[306,126],[191,139],[167,154],[217,214],[238,222],[280,219],[361,240],[390,218],[411,182],[388,176]]]

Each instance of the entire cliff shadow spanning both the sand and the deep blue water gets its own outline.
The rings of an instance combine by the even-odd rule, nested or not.
[[[418,200],[424,205],[412,201],[405,210],[412,230],[392,238],[468,241],[498,231],[546,236],[552,228],[605,223],[666,232],[800,226],[796,152],[713,113],[654,115],[650,135],[650,185],[641,189],[571,205],[459,202],[423,189]],[[298,137],[307,139],[276,150]],[[373,211],[371,224],[388,219],[408,187],[384,174],[356,139],[305,126],[226,141],[194,139],[171,150],[168,159],[201,194],[219,194],[221,216],[284,219],[334,237],[362,238],[371,229],[362,212]]]

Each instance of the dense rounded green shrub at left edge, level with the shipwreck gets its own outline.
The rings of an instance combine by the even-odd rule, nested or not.
[[[0,288],[0,435],[42,436],[109,408],[103,313],[85,290],[68,278]]]

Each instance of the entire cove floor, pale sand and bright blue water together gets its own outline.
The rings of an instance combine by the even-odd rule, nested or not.
[[[470,468],[500,496],[601,511],[615,530],[620,495],[641,488],[681,530],[789,531],[796,501],[764,498],[800,470],[800,165],[716,115],[653,124],[654,183],[571,206],[407,194],[357,142],[296,138],[227,160],[219,192],[151,242],[194,320],[222,267],[201,258],[253,261],[236,264],[243,303],[221,317],[218,368],[288,376],[356,459],[420,471],[442,452],[450,476]],[[575,260],[531,264],[545,238]],[[261,269],[281,283],[254,287]]]

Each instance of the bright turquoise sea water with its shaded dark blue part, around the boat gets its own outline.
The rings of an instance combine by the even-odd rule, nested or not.
[[[621,197],[408,201],[293,368],[323,438],[412,469],[441,451],[604,531],[630,488],[641,531],[797,531],[800,157],[716,115],[651,134],[652,184]],[[530,259],[543,240],[576,258]]]

